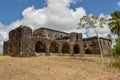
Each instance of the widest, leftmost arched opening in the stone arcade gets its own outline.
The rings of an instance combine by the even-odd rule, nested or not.
[[[46,52],[46,45],[45,45],[44,41],[38,41],[38,42],[35,44],[35,51],[36,51],[37,53]]]

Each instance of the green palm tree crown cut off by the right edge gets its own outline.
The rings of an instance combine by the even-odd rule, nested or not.
[[[120,36],[120,11],[115,11],[110,14],[109,27],[112,33]]]

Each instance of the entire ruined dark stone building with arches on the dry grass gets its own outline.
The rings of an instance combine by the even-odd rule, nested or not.
[[[111,41],[100,38],[102,51],[109,55]],[[80,55],[100,54],[97,37],[83,39],[81,33],[65,33],[48,28],[32,30],[21,25],[9,32],[9,40],[4,42],[3,55]]]

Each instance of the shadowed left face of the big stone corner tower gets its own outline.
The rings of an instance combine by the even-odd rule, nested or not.
[[[21,47],[21,29],[22,27],[18,27],[15,30],[9,32],[9,40],[4,42],[5,49],[8,49],[6,54],[10,54],[11,56],[20,56],[20,47]]]

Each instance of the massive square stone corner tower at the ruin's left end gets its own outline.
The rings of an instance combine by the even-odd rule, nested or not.
[[[9,40],[4,42],[3,55],[34,56],[32,48],[32,29],[20,26],[9,32]]]

